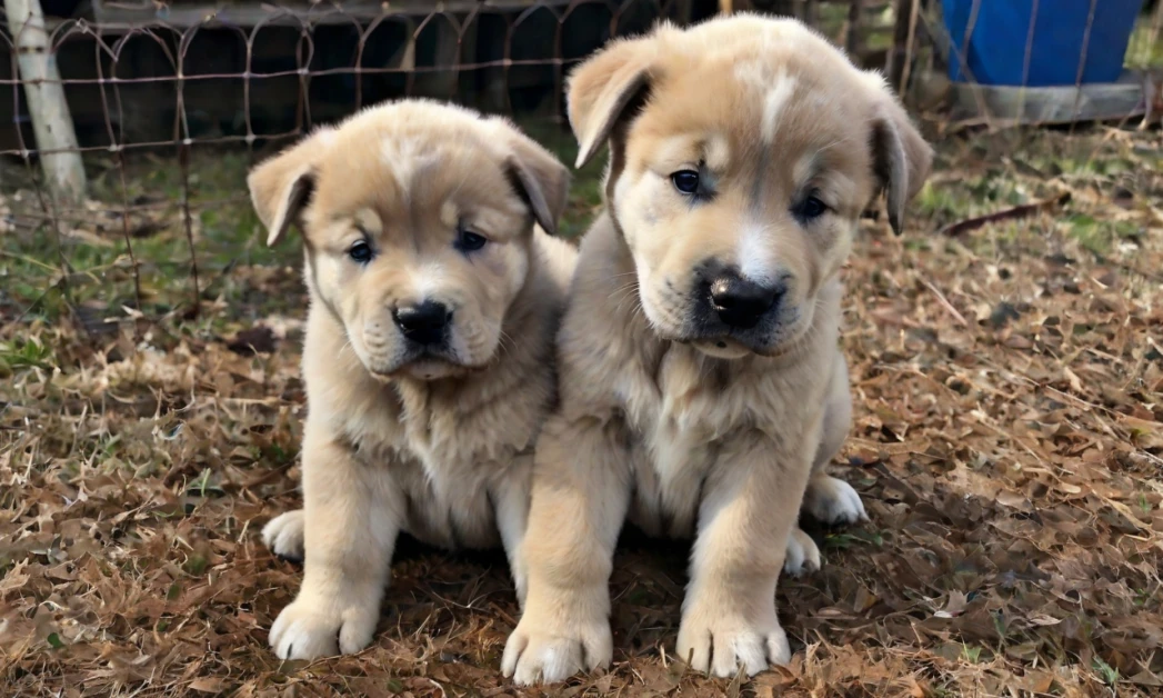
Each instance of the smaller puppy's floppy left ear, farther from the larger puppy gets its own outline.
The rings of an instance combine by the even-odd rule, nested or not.
[[[315,131],[297,145],[261,163],[247,176],[250,200],[266,226],[267,247],[274,245],[295,223],[315,188],[315,169],[329,129]]]

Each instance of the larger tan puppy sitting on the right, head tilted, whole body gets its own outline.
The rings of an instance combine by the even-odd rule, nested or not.
[[[579,164],[611,145],[606,213],[558,335],[562,403],[537,443],[502,669],[529,684],[609,662],[628,517],[695,536],[679,657],[755,674],[790,658],[785,548],[793,571],[818,561],[801,504],[864,515],[823,472],[850,414],[837,276],[882,188],[899,229],[932,151],[878,76],[799,22],[750,15],[612,43],[573,73],[569,115]]]

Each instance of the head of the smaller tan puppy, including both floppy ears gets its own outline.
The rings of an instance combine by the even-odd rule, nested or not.
[[[269,244],[302,230],[315,301],[368,370],[436,379],[497,356],[568,172],[504,120],[402,101],[315,131],[248,184]]]

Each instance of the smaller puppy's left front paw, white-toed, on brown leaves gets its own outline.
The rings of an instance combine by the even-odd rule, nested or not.
[[[314,660],[354,654],[371,643],[379,607],[335,599],[331,603],[302,596],[279,613],[271,626],[270,643],[280,660]]]

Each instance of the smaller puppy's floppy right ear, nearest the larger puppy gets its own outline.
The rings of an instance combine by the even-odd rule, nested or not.
[[[541,229],[557,234],[557,222],[565,211],[570,190],[570,171],[536,141],[525,135],[505,119],[491,121],[504,134],[509,154],[505,166],[509,181],[533,211]]]

